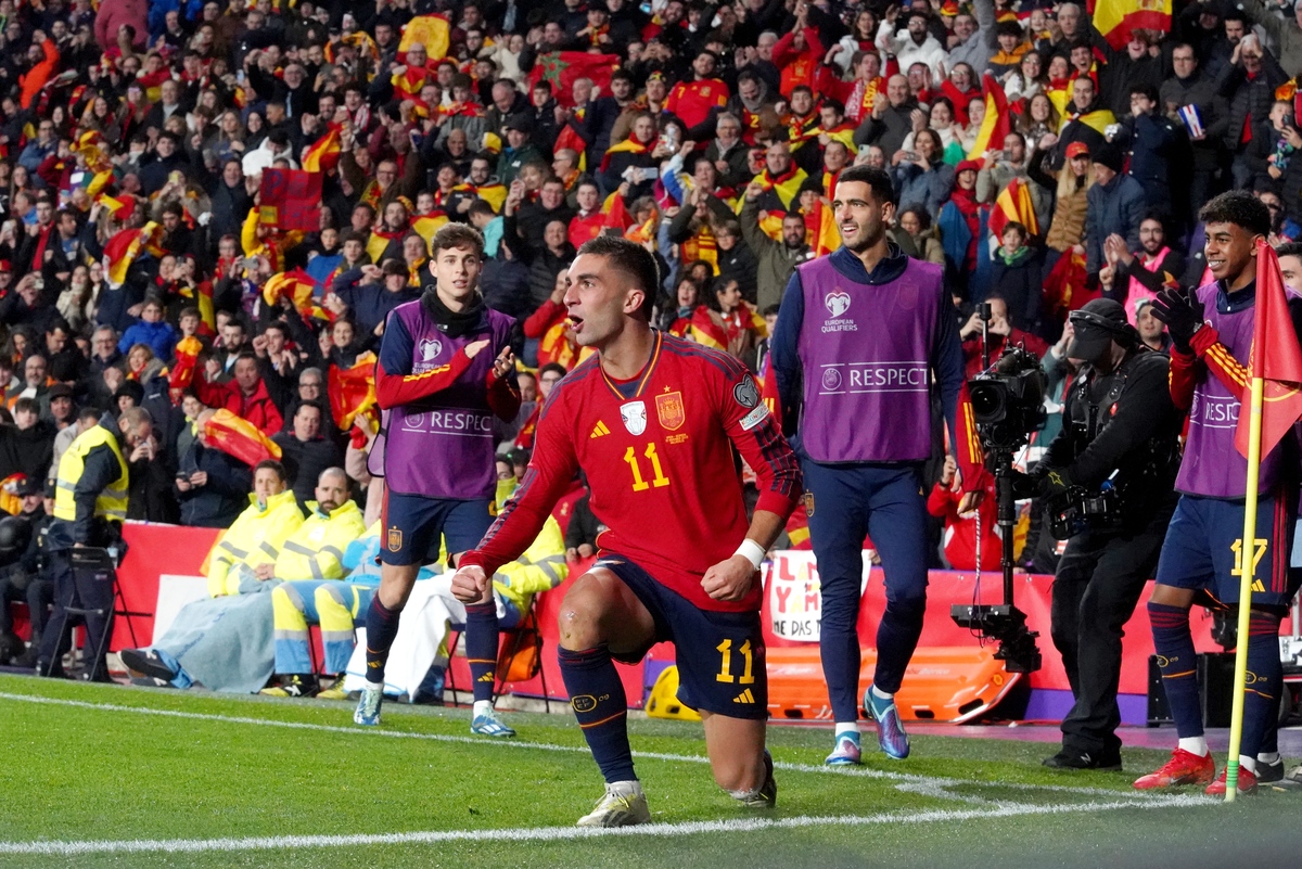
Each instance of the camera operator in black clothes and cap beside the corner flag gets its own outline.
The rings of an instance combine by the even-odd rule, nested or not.
[[[1062,721],[1062,749],[1044,761],[1059,769],[1121,769],[1117,684],[1121,636],[1134,613],[1176,506],[1181,414],[1167,386],[1169,359],[1139,340],[1125,308],[1095,299],[1070,315],[1068,358],[1083,363],[1025,494],[1049,510],[1069,503],[1107,514],[1072,528],[1053,580],[1052,635],[1075,705]],[[1025,497],[1023,494],[1023,497]],[[1094,500],[1094,510],[1083,507]]]

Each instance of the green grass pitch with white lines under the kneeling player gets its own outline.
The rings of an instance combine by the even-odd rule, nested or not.
[[[566,714],[219,697],[0,676],[0,866],[1217,866],[1302,865],[1302,796],[1224,805],[1059,774],[1044,744],[928,736],[904,762],[822,766],[822,729],[773,727],[779,808],[740,810],[699,725],[631,721],[655,825],[573,827],[600,777]],[[870,735],[871,742],[871,735]],[[1250,861],[1250,862],[1249,862]]]

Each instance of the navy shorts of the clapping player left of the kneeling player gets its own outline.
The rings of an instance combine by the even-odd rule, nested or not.
[[[385,565],[431,565],[439,561],[443,537],[449,553],[474,549],[496,515],[492,498],[427,498],[385,492],[380,562]]]

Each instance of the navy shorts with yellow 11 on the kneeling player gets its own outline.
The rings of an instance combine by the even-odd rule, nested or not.
[[[604,555],[604,567],[628,585],[655,619],[655,640],[634,654],[612,657],[637,663],[655,643],[673,643],[678,701],[729,718],[768,718],[768,673],[759,613],[703,610],[622,555]]]

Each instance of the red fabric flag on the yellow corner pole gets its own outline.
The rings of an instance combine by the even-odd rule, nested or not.
[[[1247,358],[1249,380],[1260,377],[1262,455],[1288,434],[1293,423],[1302,419],[1302,349],[1298,347],[1289,301],[1284,291],[1280,259],[1266,241],[1256,242],[1256,303],[1253,320],[1253,349]],[[1247,455],[1249,420],[1238,415],[1234,449]]]

